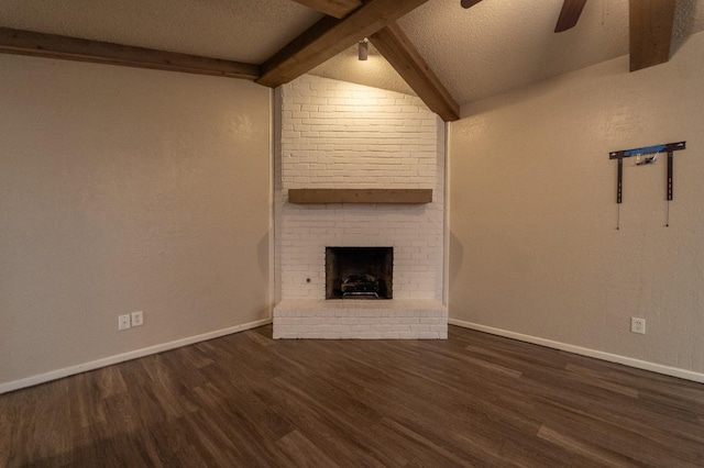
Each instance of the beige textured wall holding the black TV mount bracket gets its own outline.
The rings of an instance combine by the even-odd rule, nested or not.
[[[450,316],[704,371],[704,33],[670,63],[628,57],[463,109],[451,126]],[[470,78],[471,80],[471,78]],[[686,141],[625,161],[616,231],[608,152]],[[629,332],[630,316],[647,334]]]

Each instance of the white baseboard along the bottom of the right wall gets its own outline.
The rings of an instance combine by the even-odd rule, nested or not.
[[[620,356],[617,354],[604,353],[596,349],[583,348],[581,346],[569,345],[566,343],[553,342],[551,339],[539,338],[537,336],[524,335],[521,333],[509,332],[507,330],[494,328],[493,326],[480,325],[476,323],[464,322],[457,319],[448,321],[450,325],[461,326],[463,328],[476,330],[477,332],[491,333],[492,335],[504,336],[506,338],[518,339],[520,342],[532,343],[535,345],[547,346],[549,348],[560,349],[568,353],[574,353],[582,356],[594,357],[596,359],[607,360],[609,363],[623,364],[624,366],[635,367],[637,369],[650,370],[652,372],[663,374],[666,376],[678,377],[680,379],[692,380],[704,383],[704,374],[694,372],[692,370],[680,369],[678,367],[663,366],[661,364],[649,363],[647,360],[635,359],[632,357]]]

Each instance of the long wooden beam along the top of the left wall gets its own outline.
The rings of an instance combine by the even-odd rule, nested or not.
[[[0,53],[254,80],[252,64],[0,27]]]

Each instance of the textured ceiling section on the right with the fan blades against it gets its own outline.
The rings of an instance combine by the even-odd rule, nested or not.
[[[588,0],[578,25],[559,34],[562,0],[455,3],[429,1],[399,24],[461,103],[628,53],[627,0]]]

